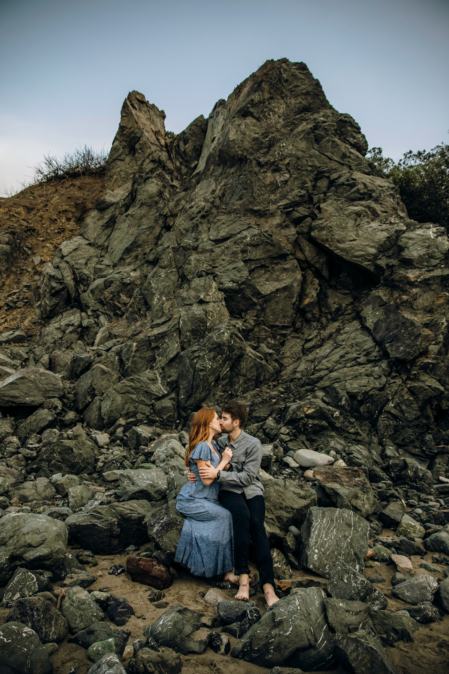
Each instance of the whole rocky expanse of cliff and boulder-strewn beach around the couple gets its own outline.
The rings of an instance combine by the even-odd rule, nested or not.
[[[304,63],[164,117],[127,96],[37,332],[0,336],[0,669],[442,674],[447,233]],[[263,444],[270,609],[254,568],[237,602],[174,563],[191,418],[230,401]]]

